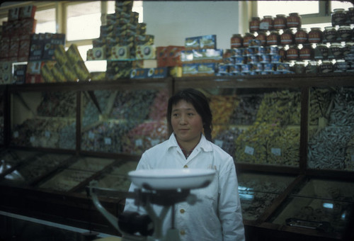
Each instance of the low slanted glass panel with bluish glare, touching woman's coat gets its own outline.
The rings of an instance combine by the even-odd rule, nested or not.
[[[294,179],[294,176],[239,174],[239,197],[244,220],[257,220]]]

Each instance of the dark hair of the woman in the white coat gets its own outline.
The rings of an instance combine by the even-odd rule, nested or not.
[[[210,110],[209,101],[205,94],[196,89],[183,89],[169,99],[166,117],[170,135],[173,132],[171,125],[172,106],[182,100],[191,103],[195,111],[202,117],[205,138],[212,141],[212,111]]]

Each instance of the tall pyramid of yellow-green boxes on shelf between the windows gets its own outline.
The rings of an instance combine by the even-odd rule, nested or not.
[[[133,1],[115,1],[115,13],[106,16],[100,38],[93,40],[87,60],[108,60],[106,79],[129,78],[132,68],[142,67],[135,60],[156,57],[154,35],[147,35],[145,23],[138,23],[139,13],[132,11]]]

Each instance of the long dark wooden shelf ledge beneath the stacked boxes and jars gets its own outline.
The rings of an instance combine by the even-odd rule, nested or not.
[[[10,91],[92,90],[114,88],[161,88],[174,82],[177,88],[200,86],[223,88],[301,88],[354,86],[354,72],[329,74],[268,74],[236,77],[167,77],[162,79],[119,79],[117,81],[64,82],[9,85]]]

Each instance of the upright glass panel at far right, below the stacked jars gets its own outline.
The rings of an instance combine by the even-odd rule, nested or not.
[[[354,89],[313,88],[309,106],[309,169],[353,171]]]

